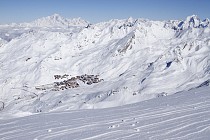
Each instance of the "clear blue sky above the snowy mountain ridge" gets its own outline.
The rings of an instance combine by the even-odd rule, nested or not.
[[[28,22],[54,13],[92,23],[113,18],[210,18],[210,0],[0,0],[0,23]]]

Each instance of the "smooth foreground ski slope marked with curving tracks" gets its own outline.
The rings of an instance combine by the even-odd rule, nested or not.
[[[121,107],[0,120],[1,140],[209,140],[210,87]]]

